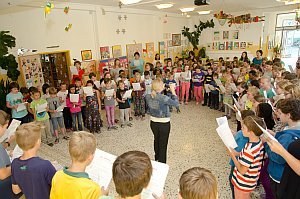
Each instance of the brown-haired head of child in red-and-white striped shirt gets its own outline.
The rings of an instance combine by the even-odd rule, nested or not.
[[[266,124],[262,118],[259,118],[257,116],[247,116],[242,121],[242,131],[245,137],[259,137],[263,133],[255,122],[259,124],[262,128],[266,129]]]

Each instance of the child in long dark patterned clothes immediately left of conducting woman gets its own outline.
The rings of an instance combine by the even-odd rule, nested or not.
[[[145,82],[141,80],[141,75],[139,72],[135,73],[135,80],[133,83],[139,83],[141,89],[140,90],[133,90],[133,103],[134,103],[134,116],[136,119],[141,118],[142,120],[145,119]]]

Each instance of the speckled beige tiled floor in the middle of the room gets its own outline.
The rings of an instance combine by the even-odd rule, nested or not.
[[[229,156],[215,131],[217,127],[215,118],[222,114],[208,107],[196,106],[194,102],[182,105],[180,114],[172,114],[167,160],[170,172],[165,185],[167,198],[177,198],[181,174],[188,168],[196,166],[211,170],[217,177],[220,199],[230,198]],[[104,115],[103,112],[103,119]],[[149,124],[147,117],[145,121],[133,121],[131,128],[119,128],[115,131],[103,128],[102,133],[96,135],[97,147],[115,155],[129,150],[141,150],[153,159],[153,135]],[[232,125],[235,128],[234,123]],[[53,148],[43,145],[40,155],[51,161],[56,160],[61,165],[68,165],[70,162],[67,141],[64,140]]]

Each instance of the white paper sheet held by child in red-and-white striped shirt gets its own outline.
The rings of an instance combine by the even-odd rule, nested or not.
[[[237,143],[233,137],[233,134],[229,128],[228,123],[224,123],[219,126],[217,129],[218,135],[222,139],[223,143],[227,146],[227,148],[236,148]]]

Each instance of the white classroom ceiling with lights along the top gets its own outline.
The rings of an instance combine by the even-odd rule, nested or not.
[[[35,5],[42,6],[45,5],[47,0],[0,0],[0,10],[13,7],[13,6],[24,6],[24,5]],[[119,0],[49,0],[54,3],[82,3],[82,4],[94,4],[103,6],[119,6]],[[146,9],[159,11],[155,5],[163,3],[172,3],[173,7],[168,9],[163,9],[163,12],[169,13],[181,13],[180,8],[194,7],[195,11],[190,14],[197,14],[197,11],[212,10],[212,12],[217,12],[224,10],[225,12],[239,12],[239,11],[250,11],[258,9],[278,9],[282,10],[284,3],[278,2],[276,0],[210,0],[210,5],[206,6],[195,6],[194,0],[142,0],[140,3],[132,5],[124,5],[128,8],[136,9]]]

